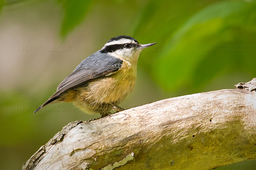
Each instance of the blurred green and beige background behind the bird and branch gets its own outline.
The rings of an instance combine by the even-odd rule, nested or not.
[[[33,114],[111,37],[157,42],[140,55],[131,108],[234,88],[256,77],[254,0],[0,0],[0,169],[22,164],[64,125],[89,120],[72,104]],[[217,170],[253,170],[245,161]]]

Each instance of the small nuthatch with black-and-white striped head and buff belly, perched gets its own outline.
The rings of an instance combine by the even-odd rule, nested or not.
[[[85,58],[34,113],[60,102],[73,103],[87,114],[100,113],[102,117],[112,109],[123,111],[118,105],[134,89],[140,53],[154,44],[142,45],[126,35],[111,38]]]

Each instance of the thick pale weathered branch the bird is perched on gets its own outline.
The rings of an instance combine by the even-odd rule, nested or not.
[[[209,170],[256,159],[256,92],[165,99],[65,126],[23,170]]]

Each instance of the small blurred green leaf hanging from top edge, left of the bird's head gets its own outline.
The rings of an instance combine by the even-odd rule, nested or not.
[[[62,0],[60,2],[64,8],[61,36],[65,38],[67,34],[84,19],[91,6],[92,0]]]

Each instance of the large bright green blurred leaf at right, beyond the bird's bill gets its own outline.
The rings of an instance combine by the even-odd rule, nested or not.
[[[154,79],[166,91],[190,87],[195,92],[216,75],[236,72],[237,67],[256,75],[251,64],[256,62],[255,7],[254,2],[224,1],[203,8],[167,39],[164,54],[153,63]],[[245,45],[252,47],[250,52],[233,51]],[[215,46],[222,49],[212,49]]]

